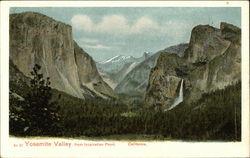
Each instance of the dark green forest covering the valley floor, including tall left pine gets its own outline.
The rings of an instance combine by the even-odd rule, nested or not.
[[[240,141],[241,82],[164,112],[118,100],[79,99],[50,87],[35,65],[29,83],[10,82],[10,135],[88,137],[131,135],[151,140]],[[20,89],[22,85],[22,90]],[[14,94],[23,94],[15,96]],[[185,97],[185,96],[184,96]]]

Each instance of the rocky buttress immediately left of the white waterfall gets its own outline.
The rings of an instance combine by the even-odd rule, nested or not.
[[[146,91],[145,105],[159,108],[170,106],[177,96],[181,77],[176,71],[183,60],[176,54],[161,53],[157,65],[151,70]],[[167,106],[165,106],[167,105]]]

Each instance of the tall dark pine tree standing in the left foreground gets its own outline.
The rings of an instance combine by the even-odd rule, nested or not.
[[[55,102],[51,102],[52,89],[50,87],[49,77],[43,79],[40,73],[41,66],[35,64],[31,72],[30,81],[31,91],[25,100],[26,118],[29,120],[27,133],[29,135],[58,135],[60,116],[59,107]]]

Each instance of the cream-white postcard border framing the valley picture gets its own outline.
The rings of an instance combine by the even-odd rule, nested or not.
[[[8,135],[9,8],[10,7],[241,7],[242,141],[236,143],[147,142],[147,146],[91,148],[13,148],[23,139]],[[1,2],[1,155],[0,157],[249,157],[249,3],[247,1],[4,1]],[[60,139],[63,140],[63,139]],[[45,139],[40,141],[46,141]],[[51,141],[51,140],[48,140]],[[92,142],[67,140],[70,142]],[[100,141],[102,142],[102,141]],[[107,141],[105,141],[107,142]]]

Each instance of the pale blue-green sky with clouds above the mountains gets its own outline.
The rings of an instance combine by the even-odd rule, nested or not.
[[[188,43],[192,28],[221,22],[241,27],[235,7],[85,7],[11,8],[10,13],[39,12],[72,26],[73,39],[95,61],[116,55],[140,57]]]

